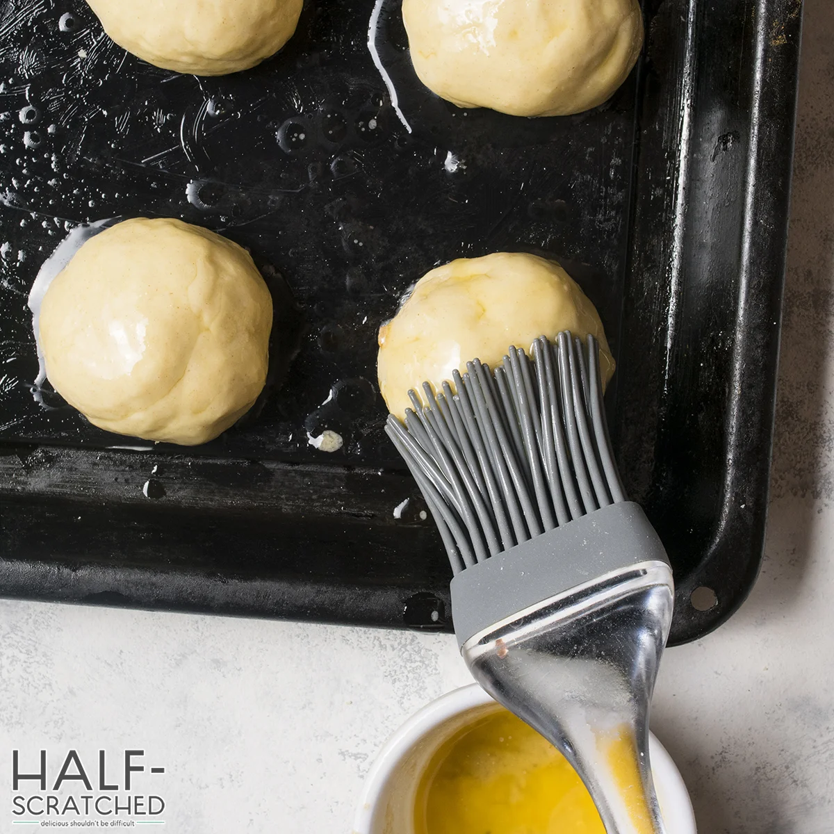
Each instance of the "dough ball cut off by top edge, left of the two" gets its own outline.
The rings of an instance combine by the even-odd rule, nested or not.
[[[249,69],[292,37],[303,0],[88,0],[104,31],[157,67],[194,75]]]

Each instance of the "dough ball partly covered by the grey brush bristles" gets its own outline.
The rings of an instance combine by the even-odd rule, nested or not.
[[[460,259],[421,278],[399,313],[379,328],[379,390],[404,419],[409,389],[440,389],[472,359],[497,367],[507,348],[530,349],[562,330],[600,342],[603,384],[614,374],[600,316],[574,279],[554,261],[506,253]]]

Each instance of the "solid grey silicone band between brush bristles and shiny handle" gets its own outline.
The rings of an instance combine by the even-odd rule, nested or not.
[[[545,600],[642,563],[669,565],[639,505],[623,501],[505,550],[455,575],[452,613],[458,645]]]

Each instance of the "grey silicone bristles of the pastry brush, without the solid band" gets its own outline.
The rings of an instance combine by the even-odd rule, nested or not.
[[[510,347],[495,369],[473,359],[440,393],[409,391],[394,441],[435,518],[455,574],[621,501],[599,344],[567,331]]]

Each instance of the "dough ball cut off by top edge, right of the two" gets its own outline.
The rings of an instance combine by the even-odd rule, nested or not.
[[[643,46],[637,0],[403,0],[403,20],[426,87],[513,116],[595,108]]]

